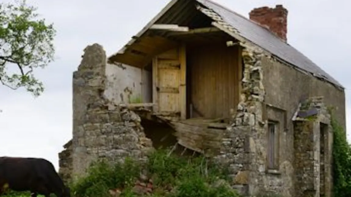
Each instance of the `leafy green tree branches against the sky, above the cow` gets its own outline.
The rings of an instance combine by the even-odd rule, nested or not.
[[[0,82],[39,96],[44,86],[33,71],[53,61],[56,31],[36,11],[26,0],[0,2]]]

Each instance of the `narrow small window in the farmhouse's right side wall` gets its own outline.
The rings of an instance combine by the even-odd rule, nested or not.
[[[277,167],[277,124],[268,123],[268,169],[276,169]]]

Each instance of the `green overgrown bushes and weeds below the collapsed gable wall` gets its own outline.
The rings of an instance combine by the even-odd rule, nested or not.
[[[120,197],[238,197],[227,184],[228,178],[223,168],[205,158],[181,158],[158,150],[143,166],[129,158],[123,164],[95,162],[87,176],[72,185],[72,192],[76,197],[113,193]]]

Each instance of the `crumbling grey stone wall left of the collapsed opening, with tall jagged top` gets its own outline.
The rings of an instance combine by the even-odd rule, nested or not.
[[[140,117],[105,96],[105,50],[95,43],[84,52],[78,70],[73,73],[73,179],[84,175],[90,163],[98,158],[123,161],[130,156],[143,160],[152,148]]]

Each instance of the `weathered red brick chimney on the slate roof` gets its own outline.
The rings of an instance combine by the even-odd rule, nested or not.
[[[285,9],[282,5],[276,5],[275,8],[254,8],[249,15],[251,20],[256,21],[261,26],[266,27],[286,42],[287,9]]]

